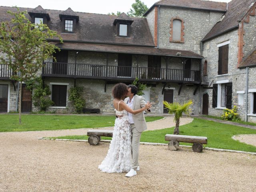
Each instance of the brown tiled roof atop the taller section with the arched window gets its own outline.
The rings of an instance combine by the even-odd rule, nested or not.
[[[178,8],[190,8],[199,10],[212,10],[226,12],[227,3],[224,2],[214,2],[214,1],[204,1],[204,0],[160,0],[156,2],[152,7],[147,10],[144,15],[146,15],[155,6],[170,6]]]

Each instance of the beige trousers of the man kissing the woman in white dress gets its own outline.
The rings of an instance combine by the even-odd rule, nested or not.
[[[132,166],[131,168],[136,170],[139,166],[139,147],[141,132],[138,132],[134,124],[131,124],[132,130]]]

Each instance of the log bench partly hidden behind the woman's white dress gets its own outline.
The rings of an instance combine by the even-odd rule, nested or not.
[[[87,132],[88,142],[90,145],[97,145],[100,142],[100,137],[112,137],[113,131],[112,130],[88,130]]]

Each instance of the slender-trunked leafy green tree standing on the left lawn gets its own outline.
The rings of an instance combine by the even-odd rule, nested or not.
[[[21,124],[22,82],[32,79],[43,66],[43,60],[52,56],[58,47],[49,44],[47,39],[62,38],[46,24],[33,24],[25,16],[26,11],[7,11],[11,21],[2,22],[0,26],[0,61],[12,69],[12,79],[20,83],[19,88],[19,123]],[[5,56],[5,57],[4,57]]]

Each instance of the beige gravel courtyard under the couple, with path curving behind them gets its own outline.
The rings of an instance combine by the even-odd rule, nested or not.
[[[190,122],[182,118],[182,123]],[[165,123],[164,123],[165,122]],[[148,123],[170,127],[171,118]],[[165,124],[165,125],[164,125]],[[86,134],[88,129],[0,133],[0,192],[39,191],[248,191],[256,192],[256,156],[167,146],[140,146],[137,176],[107,174],[98,165],[109,143],[38,140],[38,137]]]

